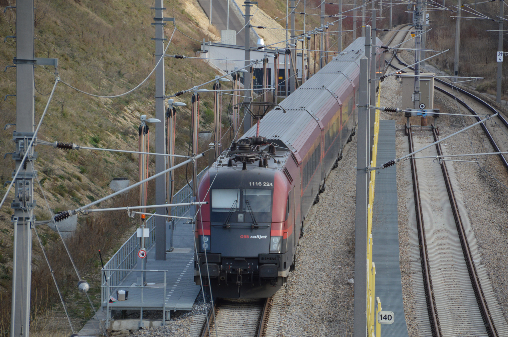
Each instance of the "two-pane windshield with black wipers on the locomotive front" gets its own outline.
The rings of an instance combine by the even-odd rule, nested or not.
[[[210,220],[224,222],[231,212],[230,222],[271,222],[272,190],[213,189]]]

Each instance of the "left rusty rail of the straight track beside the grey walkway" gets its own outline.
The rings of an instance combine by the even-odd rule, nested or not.
[[[415,151],[414,142],[412,139],[411,130],[407,130],[406,128],[407,139],[409,142],[409,153]],[[434,297],[434,289],[432,286],[432,277],[430,275],[430,263],[428,258],[428,250],[427,250],[427,239],[425,237],[425,226],[423,223],[423,210],[422,210],[422,201],[420,198],[420,185],[418,183],[418,172],[416,168],[416,160],[413,158],[415,155],[411,156],[411,176],[413,182],[413,193],[415,195],[415,209],[416,209],[416,223],[418,228],[418,243],[420,247],[420,258],[422,264],[422,274],[423,274],[423,286],[425,290],[425,299],[427,302],[427,311],[429,315],[430,329],[432,332],[432,337],[440,337],[441,334],[441,326],[439,325],[439,317],[437,316],[437,306]]]

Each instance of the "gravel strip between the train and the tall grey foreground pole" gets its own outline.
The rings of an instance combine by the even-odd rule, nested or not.
[[[345,336],[353,333],[356,139],[326,181],[313,221],[305,228],[296,270],[284,289],[280,336]]]

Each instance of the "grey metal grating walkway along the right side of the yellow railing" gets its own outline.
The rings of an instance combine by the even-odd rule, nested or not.
[[[395,121],[379,121],[377,163],[395,158]],[[383,311],[392,311],[393,324],[382,324],[383,337],[407,337],[399,265],[397,213],[397,166],[379,170],[376,176],[372,219],[373,261],[376,265],[375,295]]]

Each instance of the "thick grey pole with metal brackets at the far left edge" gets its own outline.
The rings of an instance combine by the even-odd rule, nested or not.
[[[16,58],[34,59],[34,0],[16,2]],[[21,159],[34,133],[34,64],[16,65],[16,166],[24,165]],[[32,147],[33,148],[33,147]],[[30,149],[33,154],[33,149]],[[12,268],[11,337],[27,337],[30,328],[31,289],[31,230],[33,209],[33,167],[28,158],[26,168],[21,168],[14,184],[14,251]]]

